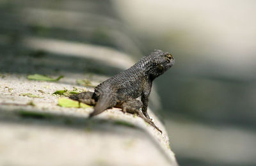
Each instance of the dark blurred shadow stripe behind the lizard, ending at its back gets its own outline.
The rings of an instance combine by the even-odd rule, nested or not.
[[[22,47],[15,47],[15,51],[10,52],[12,48],[6,45],[2,45],[0,48],[2,52],[0,71],[4,73],[39,73],[45,75],[58,74],[59,72],[97,73],[110,77],[122,71],[120,68],[90,57],[63,56]]]

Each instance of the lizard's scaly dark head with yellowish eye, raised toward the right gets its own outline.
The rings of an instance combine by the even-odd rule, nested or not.
[[[163,52],[162,50],[154,50],[148,57],[152,61],[151,68],[148,71],[149,75],[153,78],[166,72],[174,64],[174,58],[169,52]]]

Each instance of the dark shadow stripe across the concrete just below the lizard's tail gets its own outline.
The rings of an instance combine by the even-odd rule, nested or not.
[[[70,115],[54,114],[49,112],[29,111],[26,109],[15,109],[12,111],[0,110],[1,123],[27,124],[33,126],[56,126],[61,128],[70,128],[72,130],[88,130],[91,132],[113,132],[113,134],[124,135],[116,128],[120,126],[125,128],[133,128],[134,130],[142,130],[138,126],[134,126],[126,121],[115,119],[88,119],[87,117],[77,117]],[[115,132],[118,131],[118,132]]]

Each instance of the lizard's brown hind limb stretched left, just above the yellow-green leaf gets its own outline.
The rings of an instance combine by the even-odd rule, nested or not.
[[[77,100],[78,102],[81,102],[81,103],[85,103],[87,105],[95,105],[96,102],[92,98],[92,96],[93,96],[93,92],[86,91],[86,92],[82,92],[79,94],[74,94],[72,96],[69,96],[69,98],[72,100]]]

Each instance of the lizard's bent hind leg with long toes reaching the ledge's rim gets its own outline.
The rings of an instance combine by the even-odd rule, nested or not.
[[[131,114],[138,114],[145,122],[156,128],[160,133],[163,133],[157,126],[154,124],[152,119],[146,117],[143,112],[141,111],[141,107],[143,107],[143,103],[140,100],[136,99],[129,99],[122,103],[121,108],[124,112],[128,112]]]

